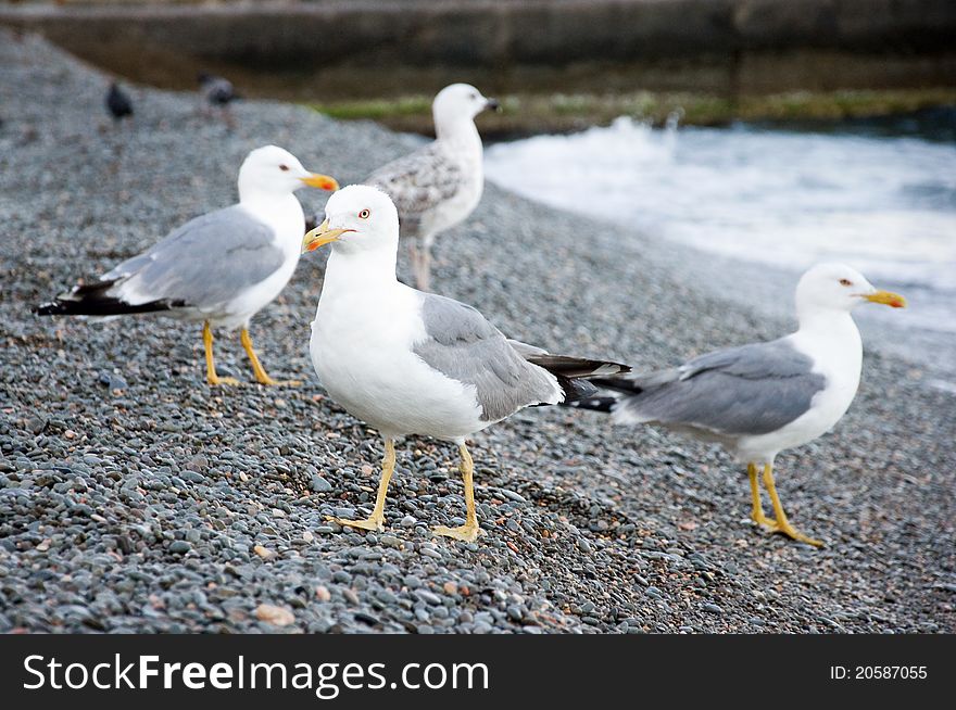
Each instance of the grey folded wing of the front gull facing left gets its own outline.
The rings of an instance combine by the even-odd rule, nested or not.
[[[453,380],[475,385],[482,421],[498,421],[521,407],[562,396],[554,379],[525,360],[475,308],[444,296],[423,295],[428,338],[414,352]]]

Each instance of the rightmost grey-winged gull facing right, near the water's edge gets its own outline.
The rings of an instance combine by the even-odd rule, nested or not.
[[[830,431],[853,402],[863,343],[851,310],[866,302],[906,306],[902,295],[878,291],[848,266],[819,264],[796,287],[796,332],[707,353],[669,370],[595,379],[594,384],[617,396],[583,398],[570,406],[609,411],[616,423],[659,424],[721,444],[747,466],[754,522],[820,546],[788,521],[773,481],[773,459]],[[773,519],[764,515],[758,468]]]

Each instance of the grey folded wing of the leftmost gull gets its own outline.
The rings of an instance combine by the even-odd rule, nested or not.
[[[273,230],[232,205],[192,219],[101,277],[124,301],[212,306],[236,297],[285,263]]]

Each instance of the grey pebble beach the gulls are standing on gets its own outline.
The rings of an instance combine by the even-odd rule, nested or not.
[[[414,139],[268,102],[239,105],[229,134],[193,97],[153,90],[114,129],[104,90],[0,35],[0,630],[956,631],[956,401],[872,348],[836,430],[779,459],[821,550],[755,529],[716,448],[559,408],[476,438],[477,544],[430,537],[464,505],[454,447],[424,440],[400,447],[385,533],[326,523],[369,506],[380,449],[312,371],[320,254],[253,324],[295,389],[211,390],[199,331],[175,321],[28,307],[231,202],[251,148],[348,182]],[[569,354],[670,364],[791,326],[678,278],[694,252],[493,187],[437,258],[437,291]],[[237,340],[218,339],[221,373],[250,379]]]

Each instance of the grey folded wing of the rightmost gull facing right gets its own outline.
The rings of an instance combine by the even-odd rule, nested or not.
[[[595,380],[625,392],[618,408],[640,421],[754,435],[776,431],[810,408],[827,384],[788,339],[708,353],[645,377]]]

